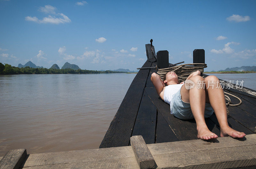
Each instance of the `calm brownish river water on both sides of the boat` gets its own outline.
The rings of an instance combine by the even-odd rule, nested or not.
[[[1,75],[0,156],[98,148],[135,75]],[[209,75],[256,90],[256,74]]]

